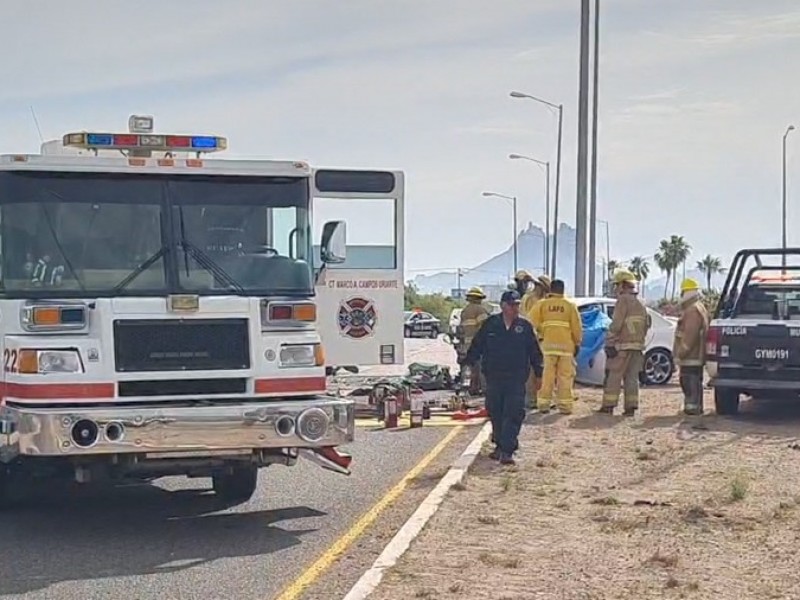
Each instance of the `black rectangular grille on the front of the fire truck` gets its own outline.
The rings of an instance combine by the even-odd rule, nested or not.
[[[247,319],[114,321],[117,372],[250,367]]]

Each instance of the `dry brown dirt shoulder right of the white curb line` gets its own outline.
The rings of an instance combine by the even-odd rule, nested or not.
[[[517,467],[479,457],[375,600],[800,598],[800,407],[532,415]],[[713,404],[706,397],[709,410]]]

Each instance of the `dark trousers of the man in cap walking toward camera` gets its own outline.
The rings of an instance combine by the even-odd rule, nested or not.
[[[513,454],[525,421],[525,380],[487,377],[486,410],[492,422],[492,441],[503,454]]]

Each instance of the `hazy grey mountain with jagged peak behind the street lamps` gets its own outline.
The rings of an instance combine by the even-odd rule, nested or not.
[[[517,237],[517,255],[520,269],[527,269],[534,275],[543,273],[544,266],[544,231],[541,227],[528,223],[525,230]],[[575,281],[575,229],[562,223],[558,229],[558,254],[556,276],[563,279],[567,290],[574,290]],[[552,236],[551,236],[552,247]],[[600,254],[598,253],[598,257]],[[630,257],[628,257],[630,258]],[[617,257],[618,260],[626,260]],[[666,277],[658,271],[652,258],[649,258],[650,277],[645,282],[644,297],[655,300],[664,296]],[[694,264],[690,261],[689,264]],[[602,282],[605,277],[605,268],[602,261],[596,267],[597,293],[601,293]],[[482,287],[505,286],[509,283],[514,272],[514,248],[510,246],[500,254],[480,263],[472,268],[461,270],[461,289],[466,290],[473,285]],[[706,278],[697,269],[687,268],[686,276],[697,279],[705,286]],[[683,279],[683,270],[678,269],[676,288],[679,288]],[[725,275],[712,277],[712,287],[720,289],[725,282]],[[454,271],[435,273],[433,275],[418,275],[412,283],[423,294],[443,293],[450,294],[451,290],[458,288],[458,275]],[[667,294],[671,293],[671,287]]]

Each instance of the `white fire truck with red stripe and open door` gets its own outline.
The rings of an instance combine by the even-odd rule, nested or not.
[[[186,475],[240,503],[261,467],[349,473],[354,405],[326,394],[325,338],[336,364],[402,360],[370,295],[397,271],[348,264],[346,222],[317,228],[313,207],[402,206],[403,173],[209,157],[226,148],[132,116],[0,156],[1,499]]]

